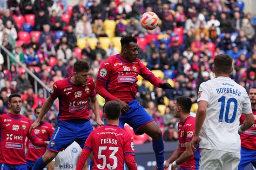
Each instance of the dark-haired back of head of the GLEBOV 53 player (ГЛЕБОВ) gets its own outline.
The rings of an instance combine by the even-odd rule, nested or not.
[[[104,112],[107,120],[118,120],[121,115],[121,105],[117,101],[108,101],[104,106]]]

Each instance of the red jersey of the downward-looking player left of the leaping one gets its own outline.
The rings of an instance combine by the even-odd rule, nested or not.
[[[51,97],[59,98],[58,120],[87,119],[89,97],[94,97],[95,84],[93,78],[89,77],[85,85],[75,85],[65,78],[54,82],[50,91]]]

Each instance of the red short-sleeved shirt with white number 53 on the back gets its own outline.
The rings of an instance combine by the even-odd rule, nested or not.
[[[112,125],[91,132],[84,148],[93,151],[93,170],[122,170],[124,155],[135,155],[131,134]]]

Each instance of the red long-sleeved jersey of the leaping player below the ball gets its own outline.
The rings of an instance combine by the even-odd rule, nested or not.
[[[97,81],[104,82],[106,90],[115,98],[130,102],[135,99],[138,89],[136,84],[138,75],[146,80],[155,77],[139,59],[135,59],[134,62],[130,63],[122,58],[120,54],[117,54],[108,57],[105,62],[101,63]],[[158,81],[161,82],[160,80],[155,81],[156,85]],[[97,93],[99,93],[98,90]],[[104,97],[101,93],[99,94]],[[107,96],[104,98],[106,101],[116,100]]]

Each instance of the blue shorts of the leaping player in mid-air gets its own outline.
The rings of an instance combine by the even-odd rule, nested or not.
[[[124,124],[127,123],[133,128],[133,131],[136,135],[141,135],[143,132],[140,132],[140,128],[151,121],[155,121],[146,110],[134,99],[127,103],[130,109],[125,113],[122,112],[121,117],[119,118],[119,126],[124,127]],[[107,123],[105,119],[105,124]]]

